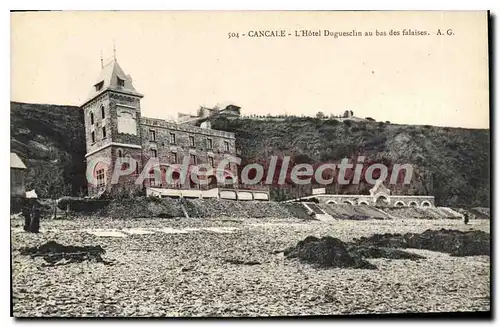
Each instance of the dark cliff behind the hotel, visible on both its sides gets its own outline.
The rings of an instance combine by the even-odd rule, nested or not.
[[[338,162],[365,156],[365,164],[412,164],[411,183],[389,185],[393,194],[434,195],[437,205],[490,206],[490,131],[375,121],[290,117],[226,119],[212,128],[236,134],[242,163],[288,155],[297,163]],[[28,166],[27,189],[41,197],[85,194],[85,136],[78,107],[11,102],[11,151]],[[327,186],[366,194],[372,185]],[[273,186],[274,199],[305,195],[310,186]]]

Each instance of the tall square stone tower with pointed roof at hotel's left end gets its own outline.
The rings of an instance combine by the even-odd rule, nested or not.
[[[142,162],[142,97],[132,85],[130,75],[123,72],[116,56],[102,67],[87,100],[81,106],[85,117],[89,195],[105,190],[132,191],[142,187],[134,184],[137,178],[135,174],[140,171]],[[139,167],[135,173],[120,176],[115,182],[112,177],[119,157],[133,158]],[[118,168],[126,170],[128,167]]]

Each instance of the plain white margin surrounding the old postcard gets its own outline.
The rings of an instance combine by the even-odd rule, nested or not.
[[[166,4],[168,3],[168,5]],[[296,1],[296,0],[289,0],[289,1],[283,1],[282,3],[280,2],[272,2],[270,0],[247,0],[247,1],[223,1],[223,0],[212,0],[212,1],[203,1],[203,0],[198,0],[198,1],[148,1],[148,0],[141,0],[141,1],[120,1],[120,2],[114,2],[112,3],[111,1],[104,1],[104,0],[86,0],[86,1],[63,1],[63,0],[58,0],[58,1],[37,1],[37,0],[31,0],[31,1],[13,1],[13,0],[7,0],[7,1],[2,1],[1,6],[2,10],[1,11],[1,36],[3,40],[3,44],[8,46],[2,47],[2,60],[1,63],[3,64],[3,72],[10,71],[10,13],[8,10],[34,10],[34,9],[39,9],[39,10],[491,10],[492,14],[497,14],[499,15],[500,9],[499,9],[499,3],[500,1],[485,1],[485,0],[475,0],[475,1],[470,1],[470,2],[458,2],[458,1],[438,1],[438,0],[420,0],[420,1],[414,1],[414,2],[404,2],[404,1],[370,1],[370,0],[365,0],[365,1],[345,1],[345,2],[337,2],[335,4],[329,3],[327,1],[320,1],[320,0],[307,0],[307,1]],[[3,8],[5,7],[5,8]],[[498,18],[496,19],[496,25],[498,26]],[[497,29],[496,29],[497,30]],[[495,32],[495,44],[498,46],[498,32]],[[498,52],[498,50],[497,50]],[[495,53],[495,61],[497,59],[497,55]],[[495,77],[498,77],[498,65],[495,65]],[[2,103],[4,104],[2,114],[4,115],[4,119],[0,119],[0,130],[10,131],[10,115],[9,115],[9,101],[10,101],[10,78],[9,75],[7,74],[2,74]],[[498,82],[495,85],[495,89],[492,90],[492,92],[495,92],[495,94],[499,94],[499,89],[498,89]],[[491,112],[494,111],[496,108],[492,108]],[[495,125],[498,125],[498,114],[495,117]],[[493,135],[494,137],[494,135]],[[492,140],[492,144],[494,145],[496,141],[496,138]],[[4,153],[7,153],[7,148],[10,149],[10,142],[7,139],[7,137],[3,137],[1,141],[1,146],[2,150]],[[498,155],[498,152],[497,152]],[[495,156],[495,161],[498,160],[498,157]],[[2,163],[4,165],[3,171],[7,172],[7,162],[4,161]],[[492,167],[493,168],[493,167]],[[496,174],[495,177],[495,185],[498,182],[498,174]],[[2,188],[2,199],[4,199],[7,202],[7,199],[9,198],[9,188],[10,185],[8,183],[3,183],[3,188]],[[492,199],[492,204],[493,203],[498,203],[497,200],[499,200],[500,195],[495,193],[495,199]],[[7,267],[10,267],[8,262],[10,262],[10,252],[7,250],[9,248],[9,242],[10,242],[10,221],[8,219],[9,217],[9,206],[5,205],[2,206],[3,208],[3,214],[2,219],[4,221],[4,228],[1,229],[3,233],[3,237],[0,237],[2,240],[2,248],[4,250],[0,251],[2,253],[2,263],[3,263],[3,269],[2,269],[2,293],[3,296],[3,303],[2,303],[2,320],[4,320],[5,323],[7,324],[14,324],[14,320],[9,318],[10,315],[10,269]],[[495,217],[496,218],[496,217]],[[497,226],[498,223],[496,224],[495,227],[495,235],[497,234]],[[497,242],[496,242],[497,243]],[[496,255],[498,255],[498,249],[495,249]],[[493,258],[492,258],[493,259]],[[495,257],[495,259],[497,259]],[[498,268],[496,270],[498,272]],[[496,279],[496,284],[498,284],[498,278],[496,278],[497,274],[495,273],[495,276],[492,278]],[[498,298],[495,299],[493,303],[495,303],[495,308],[492,308],[493,311],[497,311],[495,309],[498,309]],[[170,321],[165,321],[166,323],[170,323]],[[186,321],[187,322],[187,321]],[[218,323],[217,321],[212,321],[215,323]],[[268,321],[266,323],[277,323],[278,321]],[[293,322],[292,320],[286,320],[282,321],[284,323],[291,323]],[[309,321],[300,321],[297,320],[298,323],[309,323]],[[60,322],[61,324],[70,324],[71,322]],[[83,324],[90,324],[91,322],[82,322]],[[98,322],[98,321],[93,321],[93,323],[98,323],[98,324],[103,324],[103,322]],[[115,323],[121,324],[123,321],[116,321]],[[192,323],[192,322],[191,322]],[[259,323],[262,324],[264,321],[255,321],[253,323]],[[330,324],[331,322],[325,321],[322,322],[324,324]],[[345,324],[345,322],[334,322],[335,324]],[[356,323],[355,321],[351,322]],[[359,323],[359,322],[358,322]],[[401,323],[401,322],[396,322],[395,323]],[[408,322],[404,322],[408,323]],[[425,323],[426,325],[431,325],[433,322],[421,322]],[[447,324],[446,322],[440,322],[440,324]],[[451,322],[452,324],[455,324],[456,322]],[[474,322],[470,322],[474,323]],[[136,326],[141,326],[143,322],[140,321],[132,321],[128,322],[127,324],[131,325],[136,325]]]

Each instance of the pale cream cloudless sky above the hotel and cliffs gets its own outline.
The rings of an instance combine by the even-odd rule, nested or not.
[[[389,35],[403,29],[430,35]],[[292,36],[242,35],[260,30]],[[322,36],[294,37],[300,30]],[[11,100],[82,104],[101,52],[106,64],[113,48],[146,117],[230,101],[244,115],[352,110],[398,124],[489,127],[486,12],[11,13]]]

